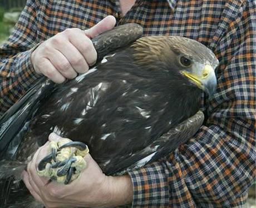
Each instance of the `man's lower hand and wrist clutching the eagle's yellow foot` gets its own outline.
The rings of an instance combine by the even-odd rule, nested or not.
[[[50,141],[59,139],[63,138],[53,133],[49,136]],[[131,203],[130,176],[106,176],[90,154],[85,156],[86,169],[71,184],[49,183],[48,178],[38,176],[38,163],[49,154],[48,144],[37,150],[23,172],[23,181],[37,201],[46,207],[112,207]]]

